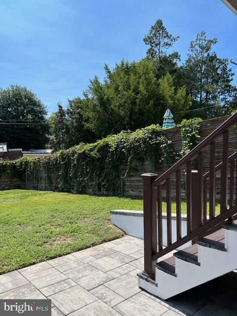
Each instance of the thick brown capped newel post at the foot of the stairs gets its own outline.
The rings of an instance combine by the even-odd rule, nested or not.
[[[143,173],[143,211],[144,211],[144,272],[143,275],[155,279],[157,253],[157,188],[152,183],[158,178],[156,173]]]

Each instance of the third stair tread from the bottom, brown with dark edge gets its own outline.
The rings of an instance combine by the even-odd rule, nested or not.
[[[226,251],[225,230],[222,228],[215,233],[196,240],[196,243],[204,247]]]

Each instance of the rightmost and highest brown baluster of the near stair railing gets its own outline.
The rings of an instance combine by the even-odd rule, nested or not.
[[[223,133],[223,150],[221,167],[221,213],[225,212],[228,207],[227,201],[227,181],[228,181],[228,152],[229,152],[229,130]]]

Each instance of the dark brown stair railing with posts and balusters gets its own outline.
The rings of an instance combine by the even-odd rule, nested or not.
[[[145,173],[143,178],[144,201],[144,272],[147,280],[155,278],[155,262],[170,251],[188,241],[194,241],[219,229],[224,221],[233,222],[237,214],[237,183],[235,170],[237,151],[229,154],[229,133],[237,124],[237,113],[228,118],[185,157],[176,162],[162,175]],[[222,161],[216,165],[217,143],[221,142]],[[218,146],[219,147],[219,146]],[[203,152],[209,153],[208,171],[204,173]],[[207,155],[205,155],[207,156]],[[197,170],[194,170],[197,169]],[[220,189],[216,188],[217,174],[220,172]],[[187,203],[187,235],[181,225],[181,187],[185,175]],[[172,236],[171,184],[176,203],[176,234]],[[228,190],[229,188],[229,190]],[[162,192],[166,200],[167,247],[163,247]],[[235,192],[236,189],[236,192]],[[209,193],[209,194],[208,194]],[[216,215],[216,197],[220,200],[220,214]],[[207,205],[209,197],[209,218]],[[235,200],[234,200],[235,197]],[[229,205],[228,205],[229,200]],[[173,228],[174,229],[174,228]]]

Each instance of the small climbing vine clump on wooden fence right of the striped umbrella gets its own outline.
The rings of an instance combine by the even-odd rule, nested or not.
[[[181,122],[181,136],[182,136],[182,156],[188,154],[193,148],[197,146],[200,141],[200,121],[201,118],[184,119]]]

